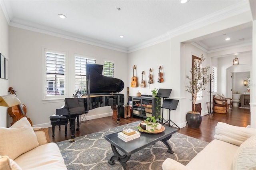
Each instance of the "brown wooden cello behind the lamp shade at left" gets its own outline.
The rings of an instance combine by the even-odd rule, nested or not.
[[[13,95],[16,95],[15,94],[15,91],[12,89],[12,87],[9,87],[9,90],[8,90],[11,94]],[[8,113],[10,115],[10,117],[12,117],[12,123],[11,123],[11,126],[17,122],[18,120],[20,120],[22,117],[27,117],[26,116],[26,112],[27,112],[27,108],[25,105],[23,104],[19,104],[19,105],[16,105],[16,106],[12,106],[12,107],[9,107],[8,108]],[[32,125],[32,121],[30,121],[30,119],[27,117],[28,119],[28,122],[30,123],[31,126]]]

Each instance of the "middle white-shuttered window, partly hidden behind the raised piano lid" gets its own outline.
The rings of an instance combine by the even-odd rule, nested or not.
[[[75,56],[75,69],[76,69],[76,80],[75,87],[76,90],[80,88],[82,94],[86,94],[86,63],[95,64],[95,59],[89,59],[86,57]]]

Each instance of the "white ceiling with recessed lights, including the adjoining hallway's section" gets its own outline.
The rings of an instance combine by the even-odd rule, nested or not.
[[[247,0],[190,0],[186,4],[179,0],[1,0],[1,6],[10,26],[130,52],[170,39],[180,34],[180,30],[191,30],[190,26],[200,24],[200,20],[210,22],[216,15],[242,13],[248,10],[249,3]],[[58,14],[66,18],[61,19]],[[231,40],[224,41],[226,37]],[[251,27],[195,43],[211,51],[250,42]]]

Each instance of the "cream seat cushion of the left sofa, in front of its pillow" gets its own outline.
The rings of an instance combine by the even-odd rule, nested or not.
[[[38,146],[20,155],[14,161],[24,170],[67,169],[58,145],[53,142]]]

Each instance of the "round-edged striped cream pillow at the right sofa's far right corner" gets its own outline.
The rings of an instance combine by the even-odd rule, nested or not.
[[[251,136],[239,146],[234,156],[233,169],[256,169],[256,135]]]

